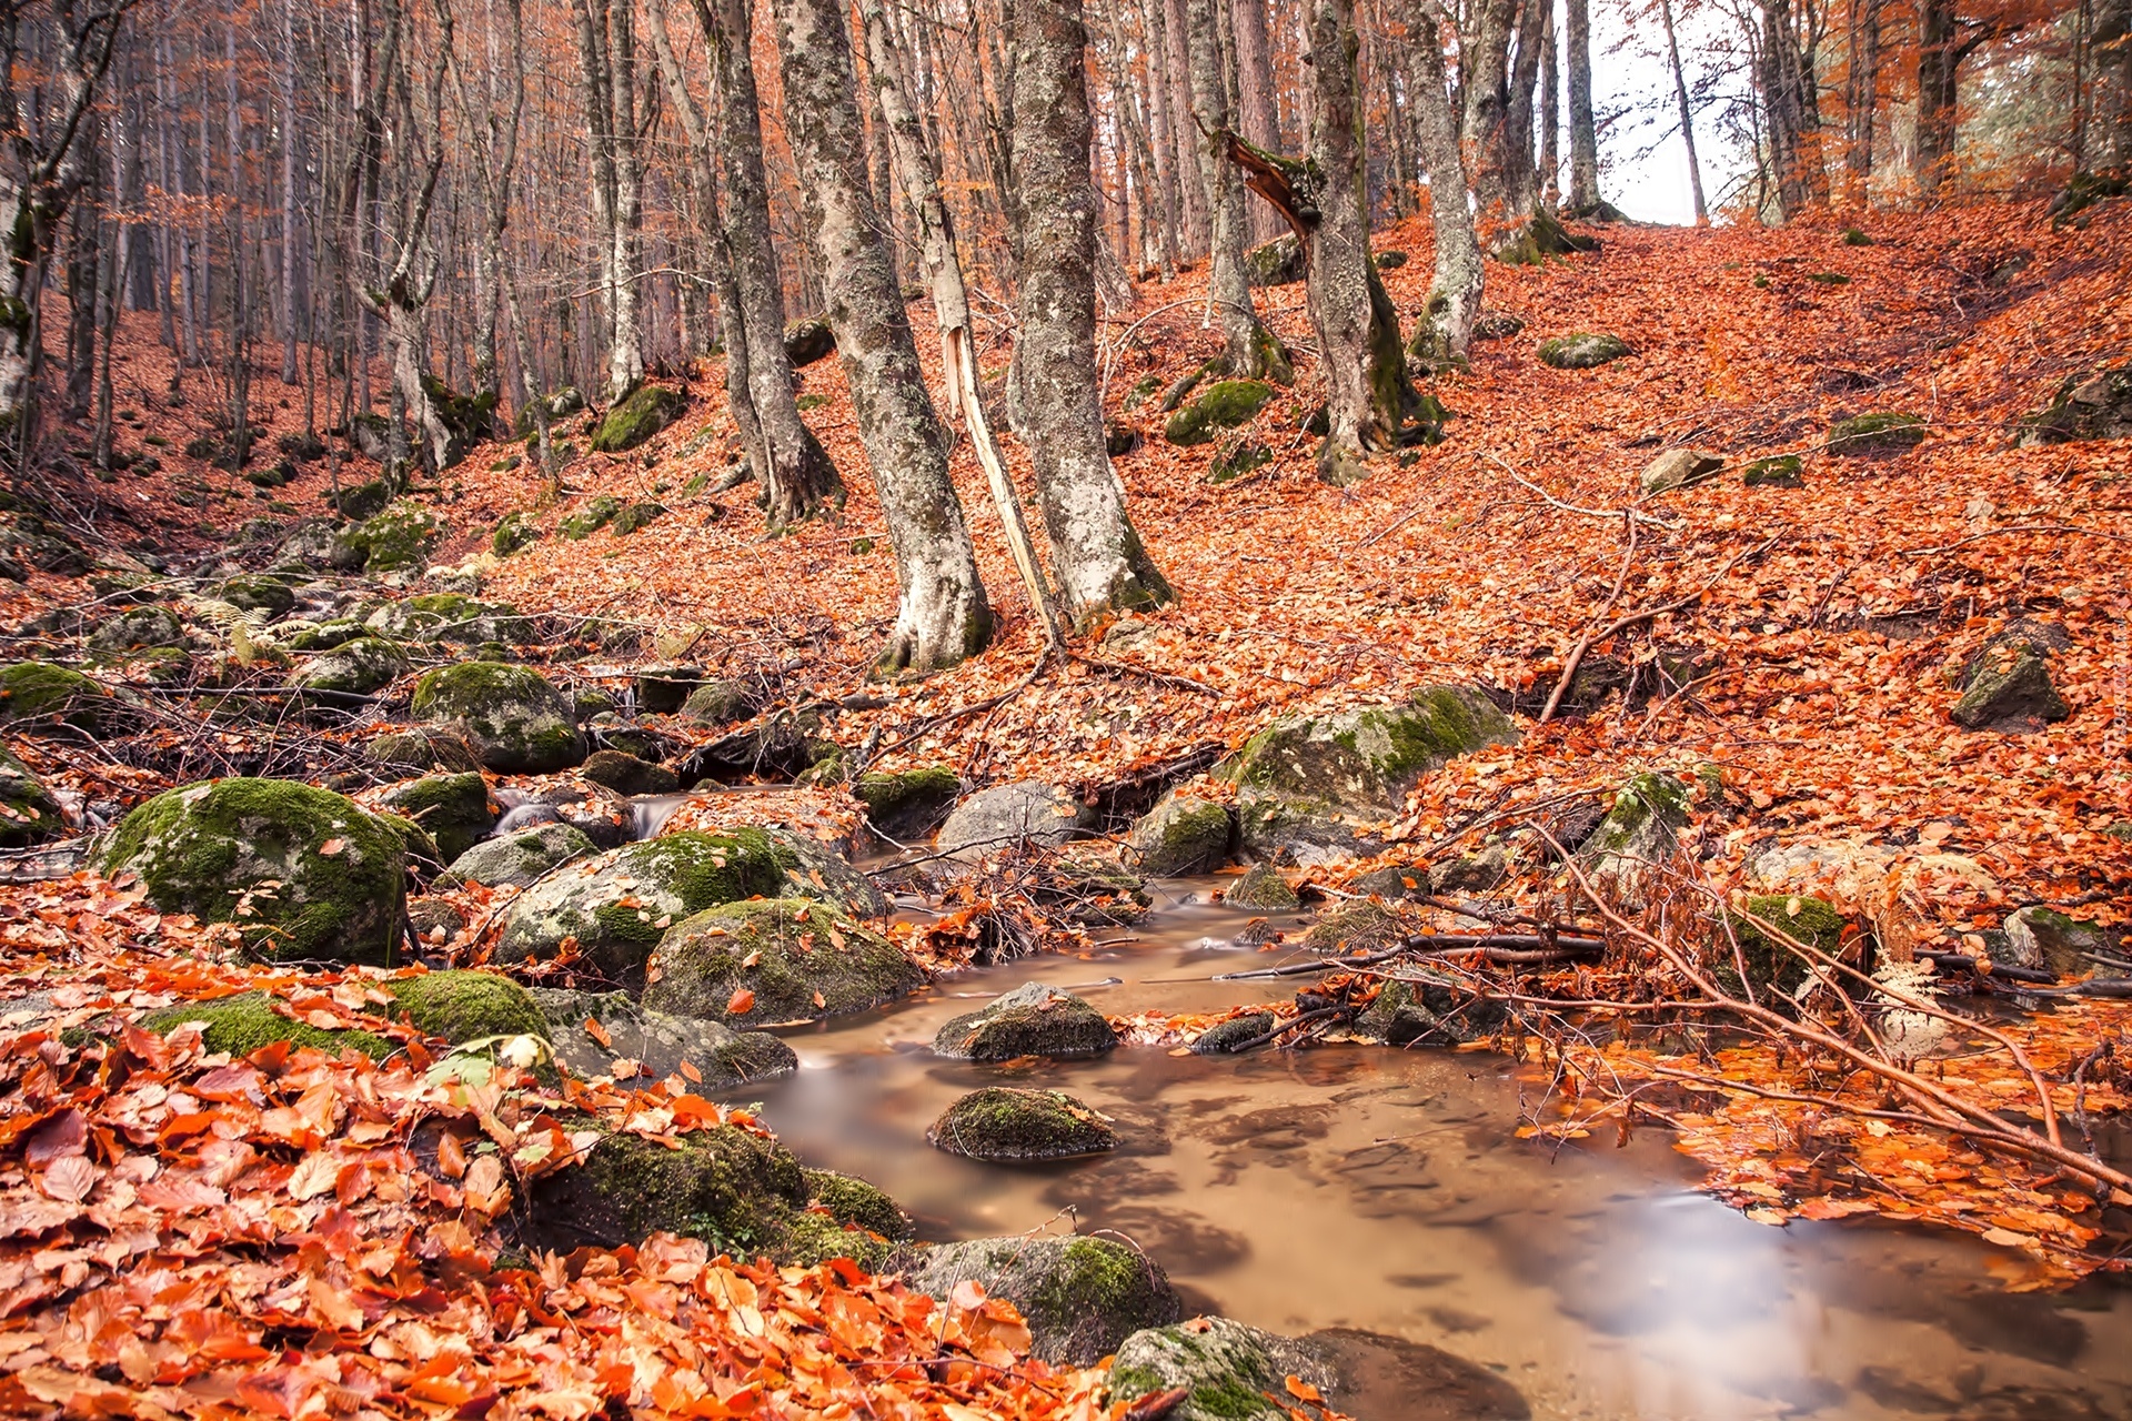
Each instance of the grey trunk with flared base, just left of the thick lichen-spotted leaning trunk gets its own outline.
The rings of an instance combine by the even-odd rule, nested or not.
[[[785,279],[770,241],[770,177],[763,170],[763,115],[755,94],[748,36],[755,17],[748,0],[693,0],[704,45],[716,68],[716,149],[725,173],[725,251],[740,294],[744,375],[748,403],[761,430],[763,509],[770,526],[785,526],[840,499],[829,452],[800,420],[793,403],[793,362],[785,354]],[[716,9],[712,9],[716,6]],[[723,300],[723,298],[721,298]],[[736,345],[727,339],[727,358]],[[731,375],[731,366],[727,366]]]

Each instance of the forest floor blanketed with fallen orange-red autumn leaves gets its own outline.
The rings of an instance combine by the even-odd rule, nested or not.
[[[1390,844],[1386,854],[1290,873],[1320,895],[1339,895],[1384,865],[1426,873],[1473,848],[1490,824],[1578,795],[1603,803],[1629,775],[1661,771],[1684,780],[1701,773],[1731,805],[1727,814],[1699,810],[1684,835],[1716,895],[1733,893],[1750,859],[1772,846],[1872,842],[1891,852],[1895,871],[1848,884],[1840,905],[1917,950],[1983,952],[1983,935],[2025,905],[2123,925],[2132,903],[2132,441],[2023,450],[2013,430],[2068,377],[2132,349],[2132,202],[2109,202],[2081,228],[2053,228],[2040,205],[1874,213],[1861,226],[1870,245],[1844,241],[1846,224],[1834,219],[1782,230],[1608,226],[1593,228],[1605,243],[1599,256],[1537,268],[1490,264],[1488,311],[1516,315],[1522,330],[1475,343],[1471,371],[1433,383],[1456,415],[1441,445],[1386,454],[1352,488],[1318,481],[1315,441],[1301,432],[1313,405],[1301,285],[1258,292],[1262,315],[1298,354],[1301,379],[1239,432],[1264,443],[1271,462],[1228,484],[1205,479],[1224,443],[1170,447],[1151,401],[1124,409],[1130,392],[1190,373],[1220,343],[1202,322],[1196,275],[1143,285],[1138,305],[1104,326],[1107,411],[1143,432],[1117,471],[1134,524],[1179,601],[1096,628],[1077,641],[1083,656],[1066,665],[1038,667],[1040,631],[1008,565],[983,475],[968,447],[957,447],[957,486],[1000,633],[983,656],[953,671],[868,684],[893,618],[895,577],[834,360],[808,366],[802,390],[808,424],[846,477],[849,501],[836,518],[763,537],[753,486],[682,496],[695,475],[716,475],[733,458],[721,373],[710,366],[684,381],[697,398],[674,428],[625,456],[574,458],[561,499],[546,499],[527,464],[503,467],[516,445],[475,450],[431,494],[452,530],[433,567],[475,571],[484,597],[522,611],[582,618],[580,646],[556,663],[559,673],[623,684],[637,663],[687,658],[712,675],[759,677],[789,703],[868,690],[885,703],[840,714],[838,741],[878,744],[883,769],[949,765],[966,784],[1045,780],[1094,793],[1207,744],[1237,748],[1277,716],[1384,703],[1435,684],[1501,692],[1520,716],[1522,737],[1426,775],[1403,812],[1377,827]],[[1426,226],[1399,224],[1377,232],[1375,245],[1379,254],[1409,256],[1386,271],[1386,283],[1411,328],[1428,283]],[[923,305],[912,307],[912,322],[932,371]],[[1618,334],[1631,354],[1590,371],[1541,364],[1537,343],[1569,332]],[[75,507],[75,533],[124,548],[205,554],[230,526],[264,511],[264,499],[179,454],[205,426],[211,401],[198,375],[190,405],[171,409],[162,401],[168,362],[151,334],[143,326],[128,337],[122,405],[126,390],[141,398],[139,420],[128,422],[134,435],[122,443],[130,447],[136,435],[162,439],[154,445],[162,471],[126,475],[115,486],[68,484],[60,496]],[[985,360],[985,377],[998,377],[1004,345]],[[296,394],[271,377],[258,379],[256,398],[273,403],[264,411],[269,432],[301,426]],[[1878,456],[1827,450],[1834,420],[1876,411],[1921,415],[1923,443]],[[563,437],[582,443],[582,430]],[[1674,447],[1714,454],[1727,469],[1686,488],[1640,494],[1644,467]],[[1742,462],[1780,454],[1799,456],[1799,486],[1740,481]],[[352,464],[337,477],[369,477],[362,469]],[[1017,475],[1025,469],[1017,467]],[[294,484],[273,490],[273,501],[316,513],[326,479],[322,464],[309,464]],[[661,501],[667,513],[629,537],[559,537],[556,522],[597,494]],[[490,533],[512,511],[527,511],[546,537],[495,558]],[[36,575],[0,599],[0,622],[87,601],[85,582]],[[1539,724],[1537,709],[1571,650],[1637,611],[1650,616],[1595,641],[1586,665],[1635,673],[1644,692],[1593,697]],[[1953,724],[1959,669],[2015,616],[2064,628],[2068,646],[2053,654],[2049,675],[2070,716],[2023,735]],[[618,624],[637,631],[635,650],[614,646]],[[1652,682],[1661,663],[1691,665],[1693,673]],[[1659,695],[1650,695],[1654,684]],[[989,701],[987,709],[957,714]],[[53,784],[115,793],[128,803],[164,788],[145,773],[98,778],[58,752],[32,748],[26,761]],[[1232,788],[1202,778],[1194,793],[1224,797]],[[827,816],[853,814],[838,793],[827,801],[836,801]],[[168,999],[252,980],[243,969],[173,959],[168,937],[158,965],[139,976],[139,935],[128,933],[151,914],[87,876],[6,888],[4,897],[0,948],[11,969],[21,980],[64,982],[79,1012],[98,1010],[111,993]],[[1509,905],[1552,918],[1569,899],[1561,880],[1539,876],[1514,888]],[[1648,920],[1644,927],[1663,931]],[[1556,976],[1548,991],[1563,997],[1608,986],[1605,974]],[[335,982],[320,980],[322,997]],[[330,1018],[337,1008],[316,1010]],[[2068,999],[2010,1012],[2002,1027],[2023,1055],[1964,1055],[1953,1074],[1940,1061],[1938,1082],[2000,1104],[2034,1084],[2049,1101],[2045,1114],[2055,1106],[2083,1127],[2083,1110],[2109,1114],[2128,1104],[2126,1082],[2096,1067],[2096,1055],[2126,1040],[2132,1003]],[[1563,1108],[1535,1116],[1533,1131],[1663,1121],[1684,1150],[1710,1165],[1712,1191],[1767,1223],[1874,1212],[1983,1234],[2006,1246],[2013,1287],[2115,1268],[2132,1238],[2132,1195],[2096,1197],[2047,1163],[1987,1155],[1959,1133],[1910,1121],[1868,1118],[1878,1087],[1842,1072],[1816,1074],[1814,1061],[1787,1059],[1770,1042],[1716,1055],[1669,1055],[1648,1042],[1516,1046],[1531,1050],[1537,1080],[1567,1095]],[[9,1067],[15,1080],[66,1069],[53,1063],[49,1042],[26,1050],[45,1057],[17,1057]],[[173,1099],[190,1093],[198,1106],[232,1089],[226,1072],[237,1067],[200,1065],[196,1044],[188,1055],[183,1044],[128,1038],[128,1050],[139,1057],[128,1069],[168,1074]],[[1703,1091],[1665,1108],[1657,1104],[1665,1097],[1648,1095],[1646,1114],[1629,1118],[1612,1097],[1601,1101],[1601,1074],[1650,1082],[1684,1065],[1761,1082],[1765,1093]],[[2096,1069],[2083,1076],[2087,1067]],[[102,1167],[126,1157],[117,1136],[134,1138],[128,1129],[139,1129],[109,1114],[117,1110],[115,1082],[81,1074],[79,1063],[72,1069],[51,1099],[75,1104],[34,1118],[9,1116],[4,1129],[11,1142],[32,1129],[43,1138],[62,1112],[75,1112],[92,1144],[83,1150],[77,1140],[62,1153],[100,1163],[94,1178],[68,1170],[58,1191],[47,1182],[43,1193],[26,1195],[28,1204],[11,1202],[0,1223],[17,1236],[36,1223],[26,1208],[79,1216]],[[365,1138],[382,1138],[360,1131],[439,1108],[422,1095],[420,1076],[371,1076],[373,1067],[313,1061],[284,1084],[298,1112],[303,1099],[318,1099],[313,1093],[384,1101],[318,1123],[313,1140],[352,1157]],[[1588,1110],[1578,1099],[1580,1080],[1593,1082]],[[1827,1110],[1829,1099],[1853,1114]],[[605,1108],[631,1118],[646,1106],[616,1097]],[[659,1108],[672,1110],[672,1101]],[[232,1148],[286,1144],[296,1123],[281,1114],[266,1110],[264,1123],[247,1116],[224,1138]],[[117,1133],[94,1144],[107,1140],[96,1131]],[[1825,1165],[1831,1140],[1844,1150],[1836,1170]],[[13,1180],[0,1185],[23,1182],[21,1170],[11,1165],[9,1174]],[[672,1381],[678,1376],[753,1376],[753,1398],[729,1393],[727,1381],[710,1383],[716,1404],[701,1412],[746,1415],[770,1395],[789,1404],[849,1398],[853,1376],[874,1363],[908,1385],[917,1410],[962,1417],[964,1406],[998,1415],[1102,1408],[1098,1374],[1053,1376],[1040,1363],[1017,1361],[1013,1323],[996,1314],[996,1304],[987,1312],[983,1300],[966,1300],[970,1306],[951,1304],[927,1319],[923,1300],[900,1300],[836,1270],[729,1270],[646,1248],[620,1255],[597,1276],[556,1274],[546,1287],[524,1283],[524,1274],[512,1274],[520,1280],[510,1285],[478,1280],[482,1270],[471,1263],[456,1280],[435,1283],[435,1257],[422,1268],[399,1259],[418,1251],[416,1240],[435,1219],[465,1216],[467,1202],[439,1195],[392,1199],[386,1208],[365,1178],[337,1174],[313,1193],[298,1191],[294,1204],[262,1195],[243,1219],[237,1195],[217,1204],[211,1216],[228,1236],[277,1229],[311,1240],[305,1248],[333,1261],[309,1274],[284,1263],[275,1276],[264,1265],[245,1276],[226,1253],[213,1255],[224,1261],[211,1276],[196,1261],[179,1270],[183,1289],[230,1304],[213,1317],[252,1321],[196,1338],[173,1332],[158,1346],[205,1349],[245,1363],[254,1381],[230,1385],[256,1383],[275,1395],[232,1393],[228,1404],[281,1415],[337,1387],[386,1387],[399,1406],[475,1415],[463,1408],[533,1385],[520,1381],[529,1376],[556,1400],[520,1402],[522,1410],[591,1415],[620,1385],[616,1368],[667,1378],[661,1385],[682,1385]],[[141,1204],[130,1208],[154,1210],[149,1182],[132,1185]],[[247,1178],[247,1189],[266,1195],[286,1185],[286,1176]],[[79,1193],[68,1197],[72,1189]],[[335,1191],[341,1208],[333,1208]],[[96,1208],[109,1206],[104,1195],[98,1199]],[[9,1246],[9,1272],[0,1276],[11,1297],[6,1312],[45,1306],[41,1317],[53,1325],[41,1334],[0,1329],[0,1368],[9,1372],[0,1404],[26,1395],[60,1404],[55,1389],[109,1363],[100,1383],[109,1395],[98,1402],[92,1389],[77,1408],[119,1412],[141,1406],[149,1395],[143,1387],[177,1366],[156,1349],[126,1351],[119,1334],[130,1314],[115,1302],[111,1312],[70,1321],[53,1310],[62,1297],[53,1289],[75,1287],[64,1283],[68,1270],[117,1270],[132,1257],[128,1251],[139,1253],[128,1240],[139,1242],[141,1223],[124,1212],[98,1219],[109,1229],[104,1244],[49,1257]],[[198,1214],[203,1257],[222,1238],[207,1216]],[[437,1255],[480,1255],[480,1223],[471,1221],[465,1240],[437,1242]],[[390,1257],[360,1253],[384,1248],[377,1240],[397,1240]],[[365,1274],[360,1287],[350,1283],[350,1268]],[[424,1287],[443,1289],[426,1302],[414,1300],[411,1285],[399,1295],[384,1287],[424,1276]],[[151,1297],[147,1280],[139,1289],[128,1306],[171,1306]],[[360,1300],[350,1302],[348,1289]],[[409,1319],[418,1304],[439,1302],[452,1321],[422,1342]],[[603,1321],[580,1334],[565,1325],[569,1312]],[[362,1332],[386,1314],[403,1351],[377,1353],[375,1366],[298,1342],[313,1336],[305,1329],[322,1327],[322,1317]],[[527,1314],[542,1327],[527,1332]],[[827,1349],[834,1359],[793,1342],[823,1329],[836,1338]],[[962,1332],[951,1338],[953,1329]],[[473,1361],[446,1334],[484,1338]],[[505,1334],[510,1344],[490,1342]],[[910,1361],[942,1349],[955,1361]],[[30,1353],[34,1363],[23,1361]],[[156,1404],[183,1412],[207,1395],[181,1391],[173,1387]],[[872,1395],[878,1402],[881,1393]]]

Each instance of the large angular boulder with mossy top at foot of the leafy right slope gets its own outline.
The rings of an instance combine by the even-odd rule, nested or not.
[[[1228,763],[1239,842],[1254,859],[1354,856],[1373,844],[1356,822],[1392,818],[1424,773],[1516,739],[1518,726],[1463,686],[1428,686],[1405,705],[1275,720]]]

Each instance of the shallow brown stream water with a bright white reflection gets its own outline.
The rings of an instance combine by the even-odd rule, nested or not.
[[[1245,914],[1205,891],[1170,884],[1200,901],[1162,905],[1138,942],[1094,959],[1021,961],[795,1031],[800,1074],[750,1095],[802,1159],[872,1178],[925,1238],[1111,1229],[1196,1310],[1433,1344],[1503,1376],[1533,1417],[2132,1415],[2132,1291],[2006,1293],[1993,1251],[1966,1238],[1763,1227],[1691,1193],[1693,1165],[1661,1136],[1518,1142],[1518,1082],[1497,1057],[1124,1048],[998,1067],[927,1050],[949,1016],[1032,980],[1113,1016],[1277,995],[1205,980],[1277,961],[1226,948]],[[927,1146],[925,1125],[981,1084],[1072,1091],[1117,1118],[1124,1146],[1047,1167]],[[1465,1415],[1426,1387],[1390,1391],[1364,1421]]]

